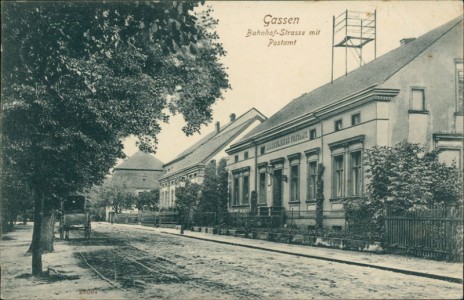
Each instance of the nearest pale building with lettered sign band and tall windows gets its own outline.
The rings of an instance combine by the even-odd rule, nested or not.
[[[296,223],[314,225],[321,179],[324,224],[344,226],[343,200],[365,192],[364,149],[402,140],[438,148],[440,159],[462,168],[462,17],[402,41],[294,99],[233,144],[230,211],[251,210],[256,191],[260,213],[297,211]]]

